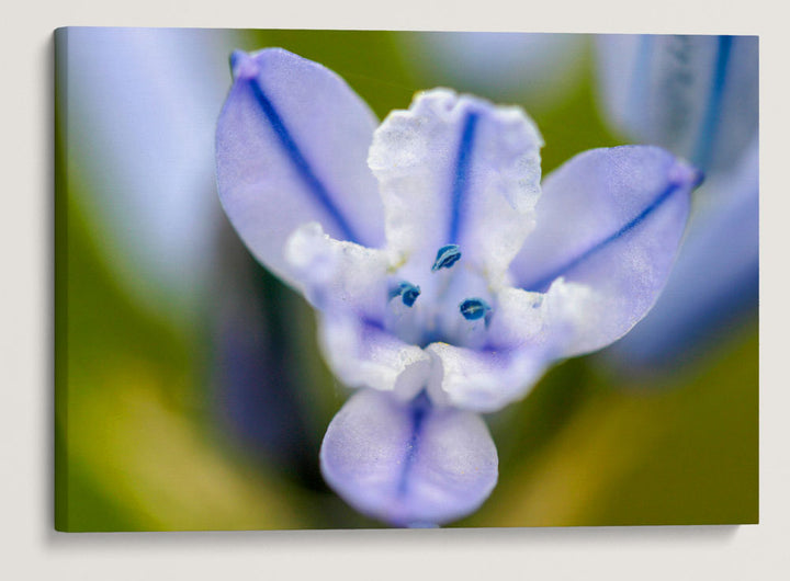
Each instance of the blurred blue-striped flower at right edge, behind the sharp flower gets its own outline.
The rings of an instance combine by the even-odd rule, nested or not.
[[[605,111],[629,139],[666,147],[706,172],[667,286],[609,352],[653,373],[692,361],[756,312],[758,43],[756,36],[605,35]]]

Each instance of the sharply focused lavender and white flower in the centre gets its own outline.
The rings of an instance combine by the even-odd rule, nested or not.
[[[315,307],[335,374],[328,483],[402,526],[474,511],[497,480],[479,417],[650,309],[699,173],[656,147],[584,152],[541,184],[518,107],[447,89],[377,122],[334,72],[283,49],[232,57],[222,204]]]

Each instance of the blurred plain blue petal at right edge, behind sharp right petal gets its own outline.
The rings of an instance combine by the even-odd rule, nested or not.
[[[710,349],[748,312],[759,278],[757,141],[731,172],[696,193],[699,204],[661,298],[609,351],[621,366],[675,368]]]

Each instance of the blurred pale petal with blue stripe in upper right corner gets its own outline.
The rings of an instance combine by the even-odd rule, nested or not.
[[[757,134],[756,36],[607,35],[598,57],[607,113],[632,138],[708,172]]]

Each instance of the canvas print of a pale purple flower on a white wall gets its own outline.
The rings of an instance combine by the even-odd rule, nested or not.
[[[758,521],[758,38],[55,33],[58,531]]]

